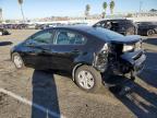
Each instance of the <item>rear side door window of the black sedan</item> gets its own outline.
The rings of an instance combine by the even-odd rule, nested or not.
[[[77,33],[70,31],[59,31],[57,33],[55,45],[84,45],[86,38]]]

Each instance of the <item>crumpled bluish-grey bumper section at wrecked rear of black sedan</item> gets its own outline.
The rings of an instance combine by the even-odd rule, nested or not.
[[[121,58],[130,63],[130,67],[134,74],[142,72],[145,66],[146,56],[143,49],[136,50],[134,52],[125,52]]]

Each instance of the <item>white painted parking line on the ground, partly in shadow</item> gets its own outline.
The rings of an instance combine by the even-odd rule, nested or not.
[[[22,103],[24,103],[26,105],[29,105],[29,106],[33,106],[33,107],[37,108],[37,109],[44,111],[46,115],[51,115],[55,118],[65,118],[62,115],[59,115],[59,114],[57,114],[57,113],[55,113],[52,110],[49,110],[49,109],[47,109],[47,108],[45,108],[45,107],[43,107],[43,106],[40,106],[40,105],[38,105],[36,103],[32,103],[31,101],[28,101],[28,99],[26,99],[26,98],[24,98],[22,96],[19,96],[19,95],[16,95],[16,94],[14,94],[14,93],[12,93],[10,91],[7,91],[4,88],[0,88],[0,92],[7,94],[7,95],[9,95],[9,96],[11,96],[11,97],[13,97],[13,98],[15,98],[17,101],[20,101],[20,102],[22,102]]]

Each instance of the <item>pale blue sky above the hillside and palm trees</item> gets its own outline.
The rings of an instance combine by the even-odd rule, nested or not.
[[[46,16],[83,16],[85,5],[90,5],[90,14],[102,12],[102,2],[108,3],[107,13],[109,14],[109,2],[111,0],[24,0],[23,10],[25,17],[46,17]],[[114,12],[137,12],[140,2],[142,10],[157,9],[157,0],[114,0]],[[17,0],[0,0],[0,8],[3,10],[3,19],[22,19]]]

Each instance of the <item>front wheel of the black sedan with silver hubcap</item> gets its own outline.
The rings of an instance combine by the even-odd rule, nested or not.
[[[12,61],[16,69],[23,69],[25,67],[22,57],[17,52],[12,54]]]

